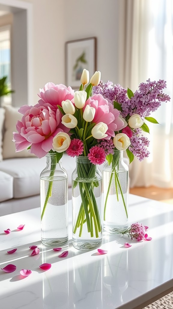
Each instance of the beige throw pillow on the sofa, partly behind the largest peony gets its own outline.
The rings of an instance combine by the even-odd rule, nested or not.
[[[15,144],[13,142],[13,132],[17,132],[16,123],[22,119],[22,114],[18,112],[18,108],[13,106],[4,106],[5,108],[5,133],[3,136],[3,159],[9,158],[23,158],[23,157],[35,157],[30,154],[27,149],[16,152]]]

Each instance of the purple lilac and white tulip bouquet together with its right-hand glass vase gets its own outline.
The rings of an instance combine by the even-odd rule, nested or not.
[[[157,124],[150,117],[161,102],[167,102],[170,97],[163,93],[166,82],[159,80],[139,85],[139,90],[133,93],[112,82],[103,83],[94,87],[95,94],[102,94],[115,109],[120,112],[120,119],[124,126],[116,130],[115,137],[111,137],[113,149],[107,153],[107,164],[103,167],[103,196],[104,196],[104,224],[103,228],[111,233],[125,231],[128,218],[128,168],[124,166],[121,156],[126,150],[130,163],[136,156],[139,161],[147,158],[149,140],[142,131],[149,133],[146,121]],[[106,149],[106,148],[105,148]]]

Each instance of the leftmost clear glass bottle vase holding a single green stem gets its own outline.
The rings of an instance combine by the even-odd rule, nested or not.
[[[46,246],[59,246],[68,240],[67,172],[55,153],[46,155],[46,164],[40,175],[41,239]]]

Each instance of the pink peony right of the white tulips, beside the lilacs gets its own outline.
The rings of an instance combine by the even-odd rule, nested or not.
[[[90,97],[83,108],[85,110],[86,105],[90,105],[95,108],[95,116],[93,122],[96,124],[104,122],[108,126],[105,139],[110,139],[111,136],[115,136],[115,131],[119,131],[124,127],[123,120],[119,117],[120,112],[115,109],[111,102],[104,99],[102,95],[96,94]]]

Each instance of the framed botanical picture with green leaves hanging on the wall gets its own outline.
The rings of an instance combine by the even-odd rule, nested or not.
[[[96,37],[67,41],[65,50],[66,86],[78,90],[83,69],[96,71]]]

